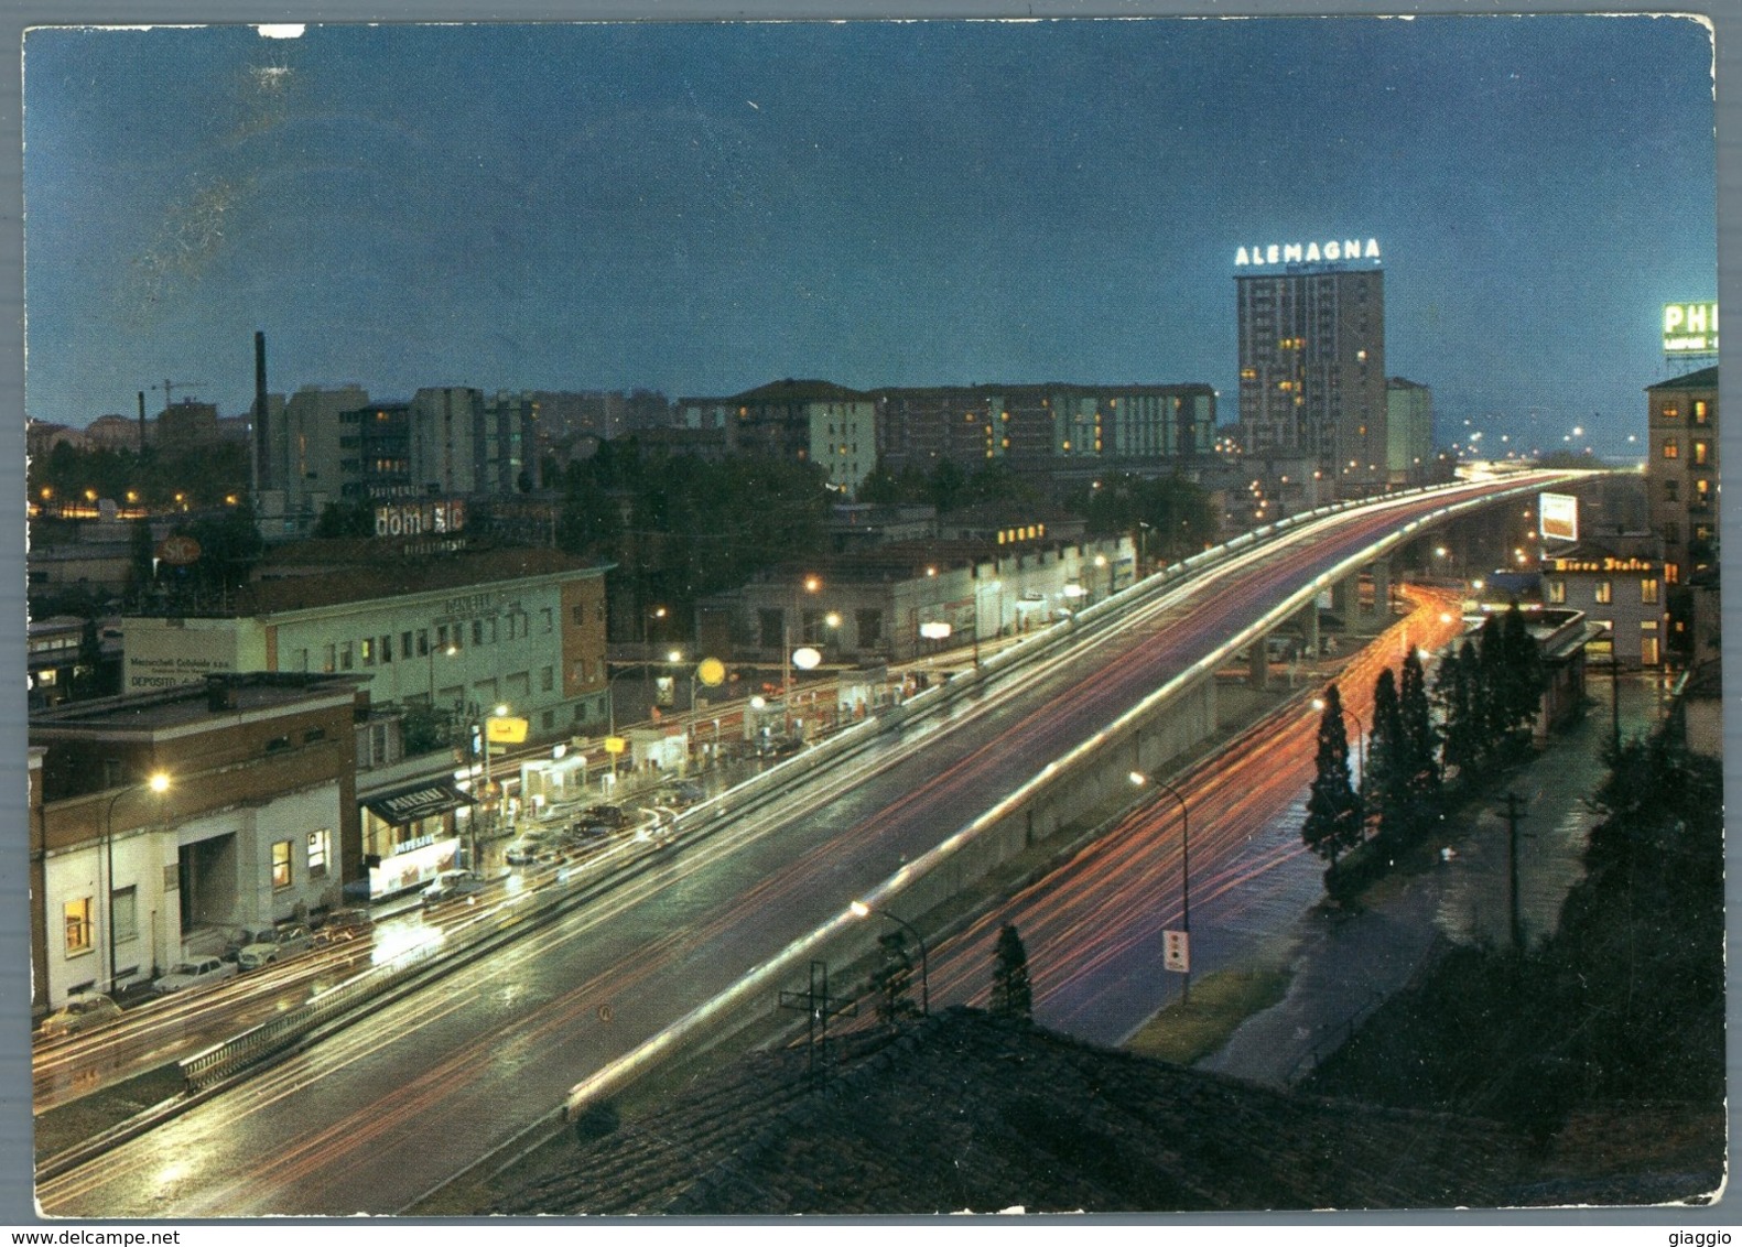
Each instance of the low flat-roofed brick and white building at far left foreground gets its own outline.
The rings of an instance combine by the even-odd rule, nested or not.
[[[213,674],[31,714],[33,1007],[338,904],[362,862],[357,684]]]

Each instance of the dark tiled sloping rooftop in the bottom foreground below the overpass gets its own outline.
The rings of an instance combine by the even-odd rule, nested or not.
[[[949,1008],[756,1054],[584,1144],[503,1214],[932,1214],[1509,1202],[1493,1122],[1277,1092]]]

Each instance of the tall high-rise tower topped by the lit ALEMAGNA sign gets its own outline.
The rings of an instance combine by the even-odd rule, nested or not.
[[[1338,493],[1385,482],[1385,273],[1380,244],[1240,247],[1240,444],[1310,460]]]

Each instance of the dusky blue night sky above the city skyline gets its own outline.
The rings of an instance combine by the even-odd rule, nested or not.
[[[164,381],[1207,381],[1235,247],[1378,239],[1387,371],[1597,453],[1718,296],[1712,61],[1651,17],[310,26],[24,45],[28,411]],[[1484,420],[1488,421],[1484,425]]]

